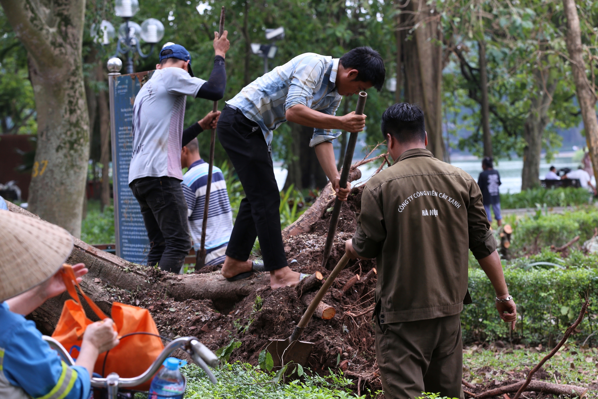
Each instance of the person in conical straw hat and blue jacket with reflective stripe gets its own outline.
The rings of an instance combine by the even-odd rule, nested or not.
[[[0,398],[87,399],[97,356],[118,345],[112,320],[87,326],[75,366],[67,366],[25,319],[66,290],[60,270],[72,237],[45,221],[0,211]],[[73,269],[77,280],[87,273]]]

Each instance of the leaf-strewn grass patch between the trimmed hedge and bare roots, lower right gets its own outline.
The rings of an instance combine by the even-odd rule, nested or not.
[[[512,373],[520,373],[525,368],[529,372],[548,354],[546,348],[541,347],[481,349],[474,345],[466,346],[463,349],[463,378],[474,383],[483,383],[494,379],[501,382],[512,378]],[[596,348],[579,348],[575,345],[565,344],[543,366],[550,376],[547,382],[577,386],[598,383],[596,352]],[[596,395],[596,391],[589,391],[589,393]]]

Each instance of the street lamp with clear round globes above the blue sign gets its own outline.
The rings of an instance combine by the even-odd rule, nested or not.
[[[118,28],[116,53],[112,58],[118,57],[119,54],[126,56],[127,74],[133,73],[134,54],[138,53],[142,58],[151,56],[154,52],[154,45],[164,37],[164,25],[155,18],[145,20],[141,26],[139,26],[138,23],[133,22],[131,19],[138,11],[138,0],[115,0],[114,14],[117,17],[122,17],[124,23]],[[102,33],[101,37],[100,32]],[[95,26],[91,27],[91,35],[101,44],[109,44],[110,40],[115,36],[114,26],[104,20],[99,25],[98,29],[96,29]],[[141,40],[151,44],[148,54],[144,54],[141,50]]]

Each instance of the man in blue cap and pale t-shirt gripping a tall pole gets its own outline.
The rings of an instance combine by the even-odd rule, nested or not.
[[[209,112],[183,130],[187,96],[224,97],[227,31],[215,32],[214,67],[208,81],[193,76],[191,56],[178,44],[160,51],[160,63],[133,104],[133,155],[129,187],[141,206],[150,249],[148,266],[179,273],[191,249],[187,204],[181,188],[181,147],[216,126],[220,112]]]

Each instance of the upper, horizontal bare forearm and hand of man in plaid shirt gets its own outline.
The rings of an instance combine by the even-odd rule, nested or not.
[[[365,115],[350,112],[340,117],[315,111],[309,106],[295,104],[285,112],[286,120],[317,129],[341,129],[347,132],[361,132],[365,127]]]

